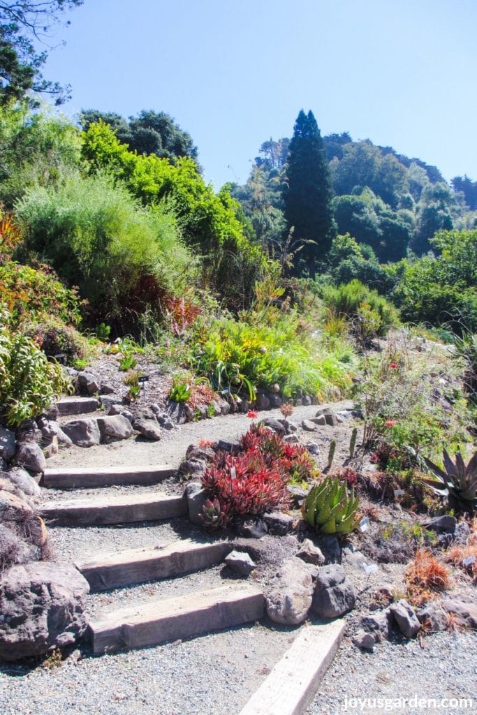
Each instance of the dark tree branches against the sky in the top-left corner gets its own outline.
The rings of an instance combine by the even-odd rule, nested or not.
[[[51,33],[67,9],[83,0],[0,0],[0,106],[23,99],[26,92],[44,92],[56,104],[69,99],[69,87],[61,87],[41,75],[51,49]],[[66,24],[69,24],[67,21]],[[43,46],[42,51],[37,51]]]

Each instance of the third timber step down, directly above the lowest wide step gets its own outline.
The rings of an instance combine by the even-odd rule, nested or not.
[[[225,541],[197,543],[183,539],[152,548],[99,554],[93,558],[80,559],[74,565],[89,581],[92,591],[107,591],[109,588],[200,571],[201,568],[220,563],[230,551],[232,545]]]

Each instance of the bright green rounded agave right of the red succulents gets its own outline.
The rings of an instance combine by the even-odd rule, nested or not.
[[[358,505],[358,497],[354,490],[348,494],[345,482],[340,482],[338,477],[325,477],[310,490],[302,511],[316,531],[347,534],[358,526]]]

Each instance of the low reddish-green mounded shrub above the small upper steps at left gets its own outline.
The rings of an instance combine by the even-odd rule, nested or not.
[[[67,365],[74,365],[84,360],[89,353],[88,341],[72,325],[64,325],[59,320],[51,319],[24,327],[24,335],[32,337],[36,345],[48,358],[64,355]]]

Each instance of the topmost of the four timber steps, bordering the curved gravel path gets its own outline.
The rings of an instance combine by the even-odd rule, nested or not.
[[[41,486],[49,489],[157,484],[174,476],[172,467],[78,467],[46,469]]]

